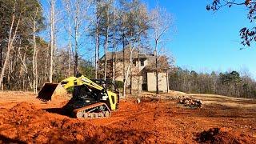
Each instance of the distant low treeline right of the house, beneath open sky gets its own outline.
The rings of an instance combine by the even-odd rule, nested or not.
[[[211,74],[178,68],[170,72],[170,90],[195,94],[221,94],[242,98],[256,98],[256,82],[237,71]]]

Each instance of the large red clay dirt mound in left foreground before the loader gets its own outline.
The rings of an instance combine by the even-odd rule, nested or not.
[[[139,130],[93,126],[86,120],[63,118],[22,102],[0,114],[2,142],[155,142],[154,134]]]

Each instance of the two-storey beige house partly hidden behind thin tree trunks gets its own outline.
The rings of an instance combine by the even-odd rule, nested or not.
[[[115,57],[116,56],[116,57]],[[116,58],[114,60],[114,58]],[[124,61],[123,61],[124,59]],[[108,52],[106,54],[108,78],[112,78],[112,66],[115,66],[116,81],[124,81],[123,70],[127,70],[130,63],[130,49],[126,48],[124,51],[118,51],[115,54]],[[114,65],[114,62],[115,65]],[[127,79],[127,88],[132,90],[146,90],[156,91],[156,73],[155,73],[155,55],[141,54],[138,50],[133,51],[130,76]],[[105,55],[100,58],[100,70],[104,69]],[[125,69],[123,69],[125,66]],[[169,87],[168,80],[168,62],[167,58],[162,56],[158,58],[158,90],[160,92],[167,92]],[[125,71],[126,74],[126,71]]]

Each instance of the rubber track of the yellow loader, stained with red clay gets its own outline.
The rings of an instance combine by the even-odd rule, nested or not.
[[[98,102],[98,103],[94,103],[94,104],[92,104],[92,105],[90,105],[90,106],[85,106],[85,107],[82,107],[82,108],[79,108],[79,109],[74,109],[74,110],[73,110],[73,113],[74,113],[75,118],[77,118],[77,114],[78,114],[80,111],[82,111],[82,110],[90,110],[90,109],[93,109],[93,108],[95,108],[95,107],[102,106],[102,105],[106,106],[107,111],[109,112],[109,116],[108,116],[108,117],[110,117],[111,111],[110,111],[109,107],[106,105],[106,103],[103,103],[103,102]],[[102,113],[88,113],[88,114],[102,114]],[[104,116],[104,117],[97,117],[97,118],[108,118],[108,117]],[[88,117],[88,118],[89,118],[89,117]],[[89,119],[90,119],[90,118],[89,118]],[[93,118],[91,118],[91,119],[93,119]]]

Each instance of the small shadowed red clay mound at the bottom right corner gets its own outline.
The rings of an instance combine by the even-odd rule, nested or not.
[[[204,130],[202,133],[197,135],[197,141],[200,143],[245,143],[248,141],[247,135],[238,135],[224,131],[220,128],[211,128],[210,130]]]

